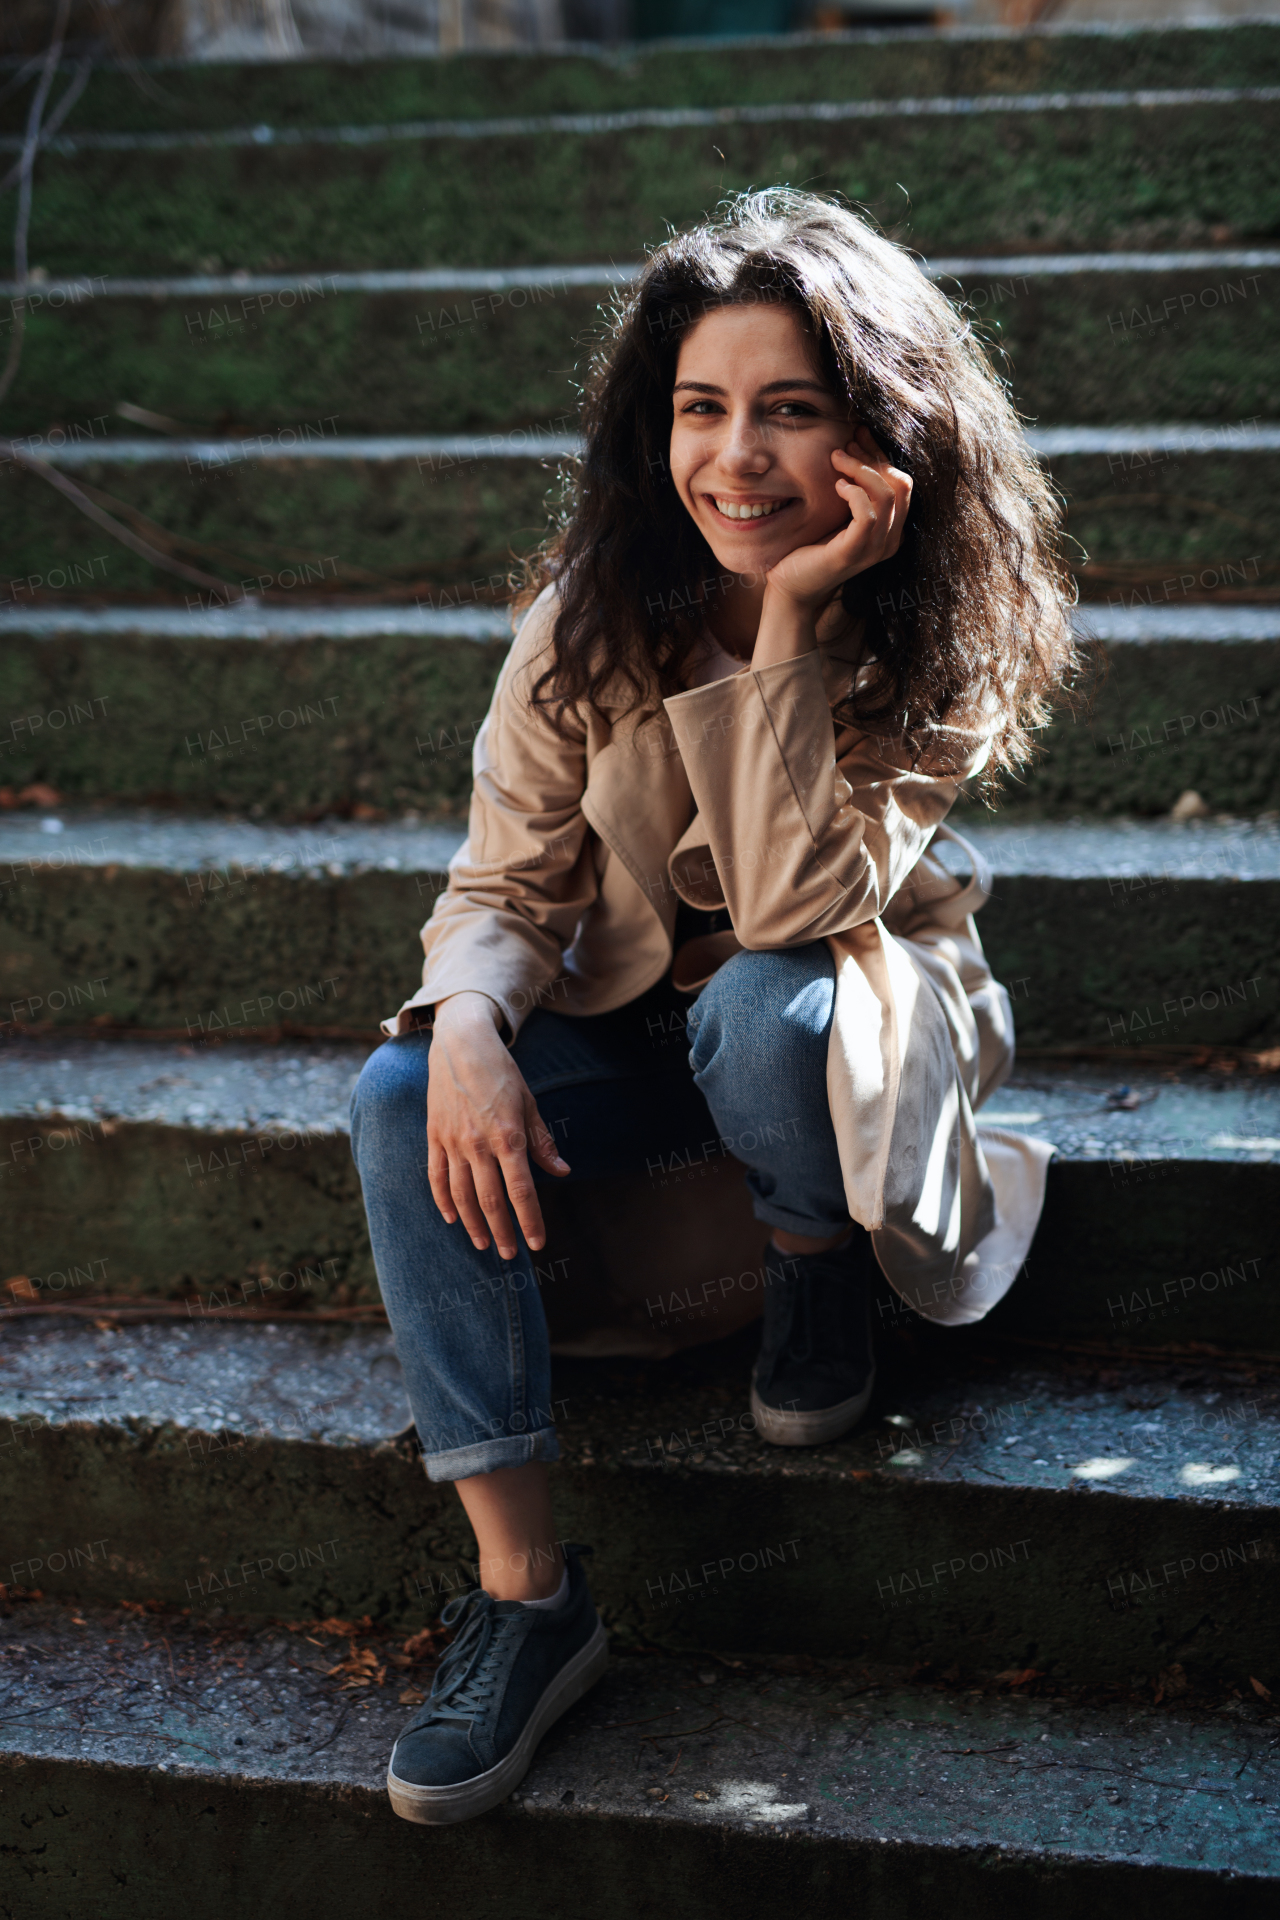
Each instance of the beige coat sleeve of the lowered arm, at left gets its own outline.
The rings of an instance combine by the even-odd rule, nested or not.
[[[384,1033],[430,1025],[436,1002],[472,991],[501,1008],[514,1041],[533,1006],[553,998],[564,948],[595,899],[585,730],[570,720],[562,737],[530,705],[553,618],[549,589],[530,609],[476,735],[468,835],[422,927],[422,985]]]

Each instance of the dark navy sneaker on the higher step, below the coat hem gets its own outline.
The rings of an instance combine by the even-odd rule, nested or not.
[[[756,1432],[773,1446],[823,1446],[856,1427],[871,1402],[871,1240],[787,1256],[764,1294],[764,1340],[750,1377]]]

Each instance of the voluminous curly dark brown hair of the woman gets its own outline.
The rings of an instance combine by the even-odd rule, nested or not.
[[[913,480],[898,553],[841,589],[864,624],[860,685],[833,708],[933,772],[990,735],[984,780],[1021,766],[1079,670],[1061,513],[963,307],[837,200],[741,194],[656,248],[595,355],[560,524],[526,574],[558,588],[533,699],[616,708],[681,691],[718,563],[668,472],[681,340],[710,311],[785,301],[856,419]]]

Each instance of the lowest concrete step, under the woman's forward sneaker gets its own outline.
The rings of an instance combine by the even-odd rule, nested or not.
[[[620,1920],[794,1905],[881,1920],[948,1903],[998,1920],[1228,1920],[1272,1910],[1272,1718],[1253,1693],[1107,1699],[1006,1678],[816,1661],[635,1659],[549,1734],[510,1801],[426,1832],[390,1812],[386,1759],[430,1684],[386,1630],[23,1601],[6,1670],[10,1878],[75,1887],[102,1920],[190,1920],[251,1897],[282,1920],[342,1903]],[[328,1668],[374,1653],[380,1684]],[[395,1665],[395,1661],[411,1661]],[[90,1705],[92,1703],[92,1705]],[[86,1715],[94,1726],[84,1726]],[[58,1809],[52,1814],[50,1809]],[[19,1878],[23,1876],[23,1878]],[[29,1878],[27,1878],[29,1876]],[[676,1878],[676,1885],[672,1885]],[[376,1887],[376,1897],[372,1889]],[[376,1899],[376,1905],[374,1905]]]

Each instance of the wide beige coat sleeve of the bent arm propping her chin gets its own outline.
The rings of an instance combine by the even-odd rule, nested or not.
[[[956,778],[912,770],[898,743],[837,739],[818,651],[664,705],[704,841],[681,841],[672,881],[691,904],[725,904],[748,948],[875,920],[956,799]]]

